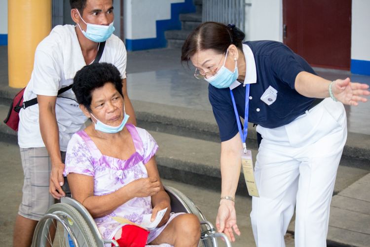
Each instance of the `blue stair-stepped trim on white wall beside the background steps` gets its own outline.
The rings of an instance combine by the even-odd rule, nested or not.
[[[195,12],[193,0],[185,0],[185,2],[171,3],[171,19],[156,21],[157,38],[128,40],[126,39],[126,49],[147,50],[153,48],[166,47],[167,40],[164,37],[164,32],[168,30],[181,30],[180,14]]]

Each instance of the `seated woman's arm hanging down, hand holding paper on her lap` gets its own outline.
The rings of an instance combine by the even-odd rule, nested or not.
[[[160,227],[164,225],[170,218],[171,200],[167,192],[164,190],[162,182],[160,180],[157,163],[155,161],[155,156],[151,157],[151,159],[145,164],[145,167],[147,168],[148,171],[148,177],[156,177],[160,182],[160,190],[158,194],[151,196],[151,205],[153,206],[153,212],[150,220],[153,221],[155,219],[155,216],[157,215],[158,211],[168,207],[161,222],[159,222],[158,224],[158,227]]]

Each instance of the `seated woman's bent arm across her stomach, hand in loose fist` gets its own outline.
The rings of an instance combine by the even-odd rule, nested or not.
[[[93,218],[104,217],[135,197],[158,193],[160,184],[155,177],[140,178],[111,194],[94,196],[94,177],[70,173],[67,178],[73,198],[86,207]]]

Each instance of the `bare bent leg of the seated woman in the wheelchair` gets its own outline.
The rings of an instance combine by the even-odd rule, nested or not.
[[[197,216],[185,213],[174,218],[150,245],[170,244],[174,247],[197,247],[200,224]]]

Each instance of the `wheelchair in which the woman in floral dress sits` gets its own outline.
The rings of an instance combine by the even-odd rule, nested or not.
[[[175,188],[164,186],[164,189],[171,199],[171,212],[193,213],[199,218],[199,247],[218,247],[218,237],[223,238],[227,247],[231,247],[227,236],[216,232],[212,223],[206,220],[188,197]],[[72,198],[64,197],[61,203],[49,207],[38,221],[32,247],[105,247],[111,244],[119,247],[115,240],[102,238],[94,219],[84,206]]]

